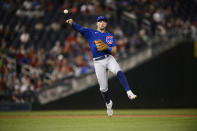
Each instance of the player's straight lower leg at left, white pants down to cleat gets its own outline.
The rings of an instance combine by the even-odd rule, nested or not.
[[[110,94],[108,91],[108,76],[107,76],[107,69],[106,69],[105,63],[106,62],[104,60],[94,61],[94,67],[95,67],[97,80],[100,86],[100,91],[106,103],[107,114],[108,116],[112,116],[113,115],[113,110],[112,110],[113,103],[110,99]]]

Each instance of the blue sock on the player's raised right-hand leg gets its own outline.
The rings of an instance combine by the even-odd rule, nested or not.
[[[118,71],[117,77],[120,80],[120,84],[124,87],[125,91],[131,90],[127,78],[122,71]]]

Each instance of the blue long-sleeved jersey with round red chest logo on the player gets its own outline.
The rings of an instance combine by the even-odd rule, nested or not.
[[[84,28],[75,22],[73,22],[72,27],[75,30],[77,30],[78,32],[80,32],[85,37],[85,39],[88,41],[93,58],[100,57],[100,56],[103,56],[106,54],[111,54],[108,50],[98,51],[96,48],[96,45],[94,44],[95,40],[102,40],[109,47],[116,46],[114,36],[108,32],[102,33],[102,32],[99,32],[98,30]]]

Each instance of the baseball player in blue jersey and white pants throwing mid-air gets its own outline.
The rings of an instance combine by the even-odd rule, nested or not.
[[[80,32],[88,41],[89,47],[93,55],[93,62],[95,67],[96,76],[100,86],[100,91],[106,102],[108,116],[113,115],[112,100],[108,91],[108,76],[107,70],[116,74],[120,80],[121,85],[124,87],[129,99],[133,100],[137,96],[131,91],[128,81],[121,71],[121,68],[115,58],[114,54],[117,52],[114,36],[106,32],[107,18],[99,16],[97,18],[97,29],[84,28],[78,25],[73,19],[66,20],[66,23]]]

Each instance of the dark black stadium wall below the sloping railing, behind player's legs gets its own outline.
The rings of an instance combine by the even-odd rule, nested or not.
[[[127,71],[125,74],[138,98],[130,101],[117,78],[109,80],[114,108],[192,108],[197,107],[197,58],[194,44],[177,47]],[[33,110],[104,109],[105,104],[94,86],[46,105],[34,104]]]

